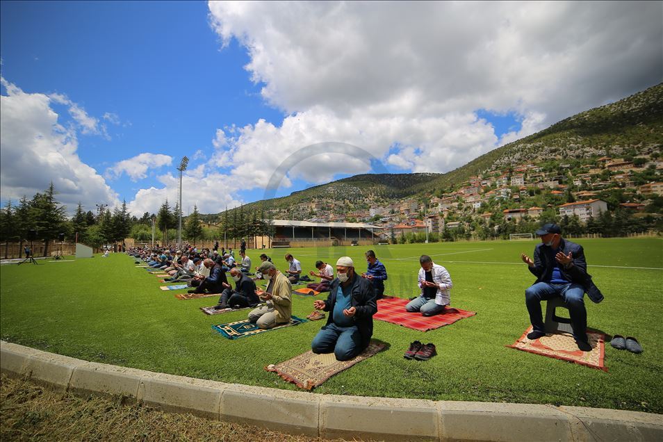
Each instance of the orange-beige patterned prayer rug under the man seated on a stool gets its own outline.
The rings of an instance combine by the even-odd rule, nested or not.
[[[523,336],[518,338],[518,341],[513,345],[507,345],[507,347],[607,371],[603,363],[605,334],[587,329],[587,338],[589,345],[591,345],[591,351],[583,352],[578,348],[573,335],[570,333],[546,334],[546,336],[541,336],[541,338],[528,339],[527,334],[530,331],[532,331],[531,325],[527,327]]]

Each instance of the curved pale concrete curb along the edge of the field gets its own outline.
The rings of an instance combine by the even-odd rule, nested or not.
[[[638,411],[318,395],[110,366],[0,341],[0,371],[60,391],[121,395],[165,411],[325,438],[393,441],[662,441]]]

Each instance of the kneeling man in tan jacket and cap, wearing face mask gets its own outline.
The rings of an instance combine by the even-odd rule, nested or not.
[[[255,322],[261,329],[272,329],[277,325],[290,322],[293,313],[293,286],[283,273],[277,271],[274,264],[263,262],[258,271],[270,281],[267,291],[256,290],[256,295],[267,304],[249,313],[249,321]]]

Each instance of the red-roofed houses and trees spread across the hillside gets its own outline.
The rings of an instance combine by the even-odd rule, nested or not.
[[[641,184],[642,171],[652,173],[659,165],[663,167],[658,155],[603,156],[585,161],[561,159],[557,163],[548,159],[543,164],[526,163],[475,174],[443,192],[431,191],[402,199],[367,194],[345,199],[343,204],[330,195],[290,206],[281,213],[292,219],[302,217],[320,222],[373,222],[400,238],[425,231],[442,235],[443,231],[459,226],[475,229],[472,225],[476,226],[476,222],[531,222],[539,220],[544,212],[548,216],[551,213],[559,217],[577,216],[580,222],[596,218],[609,207],[644,216],[648,200],[663,195],[663,182]],[[653,176],[660,177],[660,172]],[[611,193],[630,195],[631,199],[624,197],[618,204],[614,200],[609,204],[605,195]],[[270,211],[273,218],[283,218],[277,213]]]

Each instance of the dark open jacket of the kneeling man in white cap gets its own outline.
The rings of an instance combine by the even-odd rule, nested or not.
[[[329,285],[329,296],[325,301],[324,311],[334,311],[334,304],[336,304],[336,291],[338,290],[338,278],[334,278]],[[354,325],[357,325],[359,334],[361,334],[361,347],[368,347],[370,343],[370,336],[373,336],[373,315],[377,312],[377,304],[375,303],[375,290],[373,285],[370,284],[368,279],[363,279],[357,273],[354,274],[354,279],[350,282],[352,293],[352,306],[357,309],[352,319]],[[327,325],[332,322],[333,314],[327,316]]]

